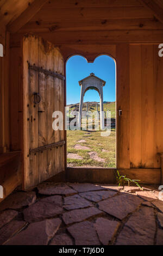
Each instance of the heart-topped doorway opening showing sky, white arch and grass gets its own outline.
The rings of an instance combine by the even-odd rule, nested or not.
[[[103,88],[97,86],[95,78]],[[92,78],[94,81],[91,83]],[[105,85],[106,82],[106,85]],[[87,63],[81,56],[72,56],[66,64],[67,107],[70,120],[73,112],[111,112],[111,134],[101,137],[101,131],[81,129],[67,131],[68,167],[116,167],[116,66],[115,60],[103,55],[93,63]],[[83,89],[82,89],[83,87]],[[100,100],[100,96],[101,100]],[[82,97],[82,99],[81,99]],[[83,105],[83,106],[82,106]],[[101,105],[101,107],[99,107]],[[98,106],[98,108],[97,108]],[[80,115],[76,118],[79,120]],[[100,119],[100,118],[99,118]],[[83,123],[83,120],[82,120]],[[100,127],[101,129],[102,127]]]

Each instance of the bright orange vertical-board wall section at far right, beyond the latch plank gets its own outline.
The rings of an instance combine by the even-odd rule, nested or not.
[[[163,152],[163,58],[158,45],[130,45],[130,167],[158,168]]]

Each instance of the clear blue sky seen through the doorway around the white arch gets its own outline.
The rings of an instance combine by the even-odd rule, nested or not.
[[[115,62],[106,55],[99,56],[93,63],[87,63],[82,56],[73,56],[66,64],[66,95],[67,105],[80,101],[80,86],[78,81],[82,80],[90,73],[94,73],[102,80],[106,81],[103,87],[104,101],[115,101]],[[96,90],[88,90],[84,95],[84,102],[99,102],[99,94]]]

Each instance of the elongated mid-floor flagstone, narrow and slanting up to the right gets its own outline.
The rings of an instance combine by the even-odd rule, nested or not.
[[[71,224],[74,222],[84,221],[90,217],[101,215],[102,213],[102,211],[98,210],[95,207],[89,207],[85,209],[77,209],[65,212],[62,215],[62,219],[64,220],[65,224]]]

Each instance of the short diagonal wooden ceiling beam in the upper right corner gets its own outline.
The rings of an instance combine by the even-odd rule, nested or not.
[[[151,10],[155,17],[163,23],[163,8],[158,5],[156,0],[140,0],[140,2]]]

